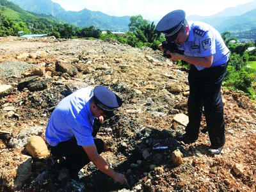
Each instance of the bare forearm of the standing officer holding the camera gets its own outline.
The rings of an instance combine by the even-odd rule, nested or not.
[[[206,67],[206,68],[211,67],[212,61],[213,61],[213,55],[202,57],[202,58],[186,56],[183,54],[177,54],[172,52],[170,52],[170,55],[172,56],[172,58],[170,58],[170,60],[172,61],[183,60],[183,61],[187,61],[188,63],[198,65],[200,67]]]

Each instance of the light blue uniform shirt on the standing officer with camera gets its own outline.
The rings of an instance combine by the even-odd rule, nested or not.
[[[187,56],[205,57],[213,55],[211,67],[227,63],[229,50],[220,33],[204,22],[188,22],[189,38],[179,49]],[[198,70],[205,67],[195,65]]]

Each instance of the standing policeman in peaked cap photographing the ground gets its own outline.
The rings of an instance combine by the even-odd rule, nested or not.
[[[211,140],[210,154],[220,154],[225,144],[225,122],[221,100],[221,83],[226,74],[229,50],[220,33],[204,22],[187,22],[183,10],[165,15],[156,30],[165,34],[168,42],[175,42],[183,54],[167,51],[170,60],[191,63],[189,69],[189,123],[186,134],[177,140],[193,143],[198,139],[202,109]],[[159,45],[161,51],[163,47]]]

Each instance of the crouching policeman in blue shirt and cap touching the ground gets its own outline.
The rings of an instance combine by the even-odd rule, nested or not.
[[[127,185],[125,175],[116,173],[99,155],[104,142],[92,136],[94,120],[102,123],[121,105],[120,97],[108,88],[88,86],[65,97],[52,112],[45,138],[54,157],[66,157],[63,166],[72,179],[77,180],[79,170],[92,161],[101,172]]]

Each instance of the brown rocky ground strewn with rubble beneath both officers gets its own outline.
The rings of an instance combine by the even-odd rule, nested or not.
[[[256,191],[256,104],[243,93],[223,88],[227,141],[209,156],[204,117],[195,143],[174,139],[187,123],[188,73],[159,51],[113,40],[8,36],[0,38],[0,62],[0,191],[81,191],[65,169],[38,182],[47,163],[33,159],[26,143],[33,135],[45,139],[56,104],[88,85],[107,86],[125,101],[98,136],[109,147],[102,157],[130,186],[90,163],[81,170],[83,191]]]

